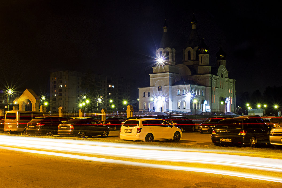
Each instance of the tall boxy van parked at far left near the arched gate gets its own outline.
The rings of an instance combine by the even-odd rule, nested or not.
[[[35,117],[50,116],[48,112],[11,110],[5,114],[4,133],[23,133],[27,123]]]

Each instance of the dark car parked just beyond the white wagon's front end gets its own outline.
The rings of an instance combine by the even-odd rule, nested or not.
[[[196,129],[195,123],[186,118],[185,116],[171,116],[166,119],[169,123],[173,124],[175,127],[178,127],[182,131],[191,131],[194,132]]]

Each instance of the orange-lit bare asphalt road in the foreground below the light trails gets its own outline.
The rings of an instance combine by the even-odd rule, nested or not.
[[[281,183],[0,149],[0,187],[241,188]],[[252,170],[250,170],[252,172]]]

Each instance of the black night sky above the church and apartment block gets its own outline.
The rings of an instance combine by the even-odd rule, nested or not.
[[[193,13],[210,65],[222,45],[237,93],[281,86],[280,8],[255,1],[1,1],[1,83],[39,95],[50,72],[75,70],[147,87],[164,19],[178,64]]]

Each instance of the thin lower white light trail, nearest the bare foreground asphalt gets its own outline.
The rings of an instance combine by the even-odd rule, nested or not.
[[[251,178],[251,179],[256,179],[256,180],[264,180],[264,181],[282,183],[282,178],[276,178],[276,177],[271,177],[271,176],[262,176],[262,175],[249,174],[249,173],[243,173],[243,172],[232,172],[232,171],[224,171],[224,170],[203,169],[203,168],[195,168],[195,167],[182,167],[182,166],[173,166],[173,165],[157,165],[157,164],[150,164],[150,163],[104,159],[104,158],[96,158],[96,157],[89,157],[89,156],[80,156],[80,155],[55,153],[55,152],[47,152],[47,151],[36,151],[36,150],[28,150],[28,149],[18,149],[18,148],[1,147],[1,146],[0,148],[7,149],[7,150],[13,150],[13,151],[45,154],[45,155],[52,155],[52,156],[61,156],[61,157],[68,157],[68,158],[75,158],[75,159],[82,159],[82,160],[91,160],[91,161],[98,161],[98,162],[105,162],[105,163],[115,163],[115,164],[122,164],[122,165],[133,165],[133,166],[140,166],[140,167],[181,170],[181,171],[191,171],[191,172],[204,172],[204,173],[210,173],[210,174],[220,174],[220,175],[236,176],[236,177],[241,177],[241,178]]]

